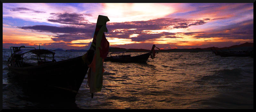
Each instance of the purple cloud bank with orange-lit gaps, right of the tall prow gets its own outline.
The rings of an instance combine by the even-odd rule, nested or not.
[[[152,40],[160,37],[167,38],[182,38],[173,36],[176,33],[171,32],[158,32],[152,33],[152,30],[170,30],[177,28],[188,28],[192,25],[205,24],[204,20],[193,20],[193,19],[183,19],[183,18],[158,18],[148,21],[132,21],[132,22],[122,22],[122,23],[110,23],[107,24],[108,27],[108,37],[116,37],[122,39],[132,39],[132,41],[146,41]],[[116,30],[119,29],[119,30]],[[135,29],[135,30],[129,30]],[[195,32],[196,33],[196,32]],[[198,32],[199,33],[199,32]],[[129,38],[132,34],[138,34],[137,37]],[[172,36],[170,36],[172,35]]]

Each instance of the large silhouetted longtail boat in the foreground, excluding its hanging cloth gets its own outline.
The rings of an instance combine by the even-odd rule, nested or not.
[[[106,24],[107,21],[109,21],[108,17],[99,15],[92,41],[93,45],[96,45],[96,37],[99,29],[104,26],[98,25],[98,22],[100,24]],[[21,85],[26,87],[26,90],[41,93],[43,94],[42,96],[46,97],[52,96],[51,98],[75,101],[76,94],[89,69],[88,65],[92,63],[95,49],[94,46],[91,46],[86,53],[85,59],[83,58],[84,55],[56,62],[54,59],[55,53],[52,51],[40,49],[40,47],[39,49],[25,46],[11,47],[11,57],[8,60],[10,62],[8,67],[19,80],[18,82],[21,82]],[[26,53],[36,54],[37,64],[24,62],[23,56]],[[45,59],[45,55],[49,54],[52,55],[52,60],[50,61]],[[44,59],[41,59],[42,56]],[[49,56],[47,57],[49,58]],[[102,62],[102,59],[100,61]]]

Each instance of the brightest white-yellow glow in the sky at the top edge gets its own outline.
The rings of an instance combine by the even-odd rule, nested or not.
[[[141,21],[164,17],[176,10],[174,4],[164,3],[102,3],[103,13],[111,22]]]

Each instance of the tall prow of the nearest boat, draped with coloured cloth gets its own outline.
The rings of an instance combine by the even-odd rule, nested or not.
[[[87,53],[82,56],[84,63],[89,67],[87,83],[92,98],[93,93],[100,92],[102,88],[104,72],[103,61],[107,57],[109,49],[109,42],[104,33],[108,32],[106,27],[108,21],[107,16],[98,16],[92,45]]]

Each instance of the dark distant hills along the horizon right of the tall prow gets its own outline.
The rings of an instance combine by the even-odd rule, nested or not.
[[[253,43],[246,42],[244,44],[240,45],[234,45],[230,47],[208,47],[208,48],[192,48],[192,49],[163,49],[163,50],[156,50],[156,52],[207,52],[212,51],[211,50],[253,50]],[[119,48],[119,47],[109,47],[109,52],[150,52],[150,50],[147,49],[125,49],[125,48]]]

